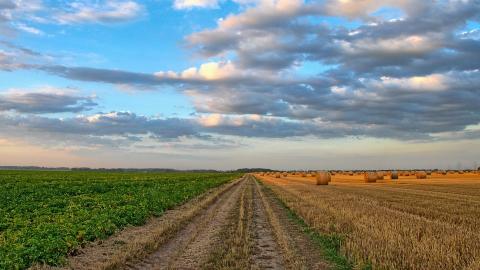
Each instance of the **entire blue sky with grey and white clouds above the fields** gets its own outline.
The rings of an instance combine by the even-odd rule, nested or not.
[[[480,166],[478,0],[0,0],[0,165]]]

